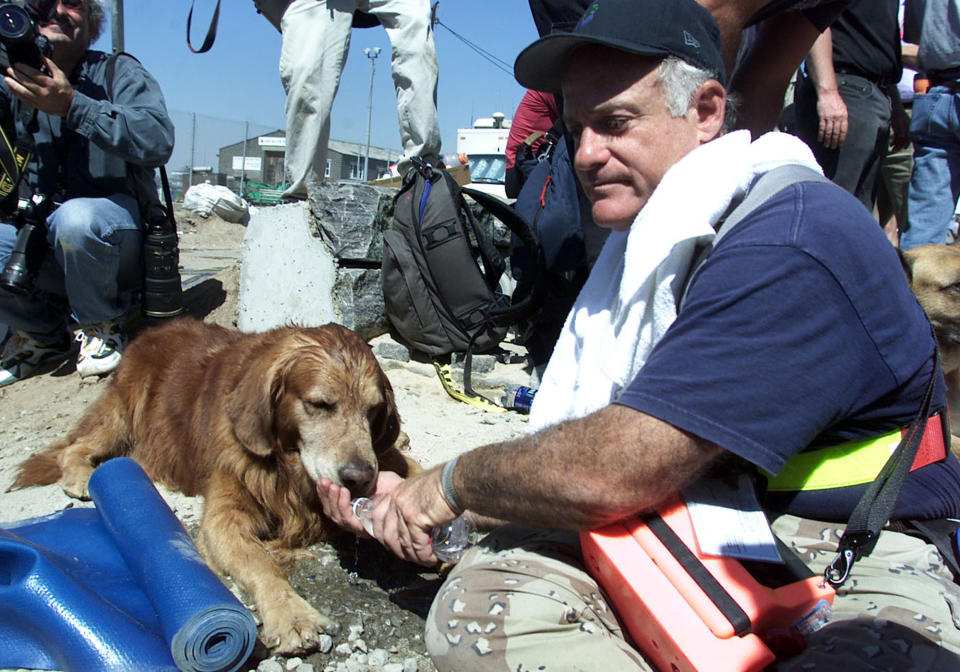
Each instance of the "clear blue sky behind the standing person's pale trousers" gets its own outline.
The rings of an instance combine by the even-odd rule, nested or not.
[[[104,2],[109,8],[110,1]],[[191,36],[195,46],[203,41],[214,4],[215,0],[196,0]],[[277,30],[256,13],[252,0],[224,0],[213,49],[194,54],[186,43],[189,10],[190,0],[124,2],[124,47],[160,82],[177,127],[172,169],[189,163],[191,137],[195,139],[194,165],[216,165],[216,149],[240,141],[243,122],[250,123],[251,136],[284,126]],[[440,131],[443,151],[453,152],[458,128],[497,111],[512,116],[523,89],[512,75],[451,31],[512,67],[517,53],[536,39],[536,29],[523,0],[442,0],[438,17],[443,24],[435,32]],[[109,26],[94,46],[110,51]],[[370,61],[363,54],[365,47],[381,48],[375,64],[371,144],[399,150],[390,42],[380,27],[353,31],[333,106],[331,137],[366,142]]]

